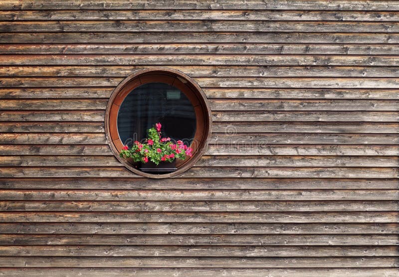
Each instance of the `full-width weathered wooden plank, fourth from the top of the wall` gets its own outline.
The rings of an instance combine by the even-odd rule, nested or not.
[[[329,43],[398,44],[399,33],[141,32],[0,33],[1,43]],[[51,64],[51,63],[50,63]],[[360,65],[360,64],[358,64]]]

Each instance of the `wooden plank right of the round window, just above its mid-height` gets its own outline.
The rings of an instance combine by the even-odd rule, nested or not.
[[[238,101],[237,101],[238,102]],[[243,101],[239,101],[241,103],[241,108],[244,108],[245,104]],[[280,102],[283,103],[283,102]],[[304,102],[302,102],[304,103]],[[258,103],[256,103],[258,104]],[[255,104],[255,105],[256,105]],[[267,103],[265,106],[267,109],[268,107]],[[285,103],[283,103],[281,106],[284,106]],[[289,103],[291,104],[291,103]],[[288,104],[288,105],[289,105]],[[398,103],[399,104],[399,103]],[[287,105],[287,106],[288,106]],[[221,105],[219,105],[220,107]],[[337,104],[335,106],[334,104],[331,105],[331,109],[339,109],[340,105]],[[353,105],[356,108],[361,109],[362,106],[358,105]],[[364,107],[364,106],[363,106]],[[220,107],[221,108],[221,107]],[[229,107],[225,107],[229,108]],[[283,109],[286,107],[283,107]],[[323,109],[323,105],[317,106],[317,109]],[[381,107],[380,107],[381,108]],[[351,109],[348,107],[348,110]],[[366,108],[367,109],[367,108]],[[0,112],[0,120],[3,118],[3,113]],[[73,114],[72,114],[73,115]],[[55,116],[57,117],[57,115]],[[15,119],[18,119],[19,117],[16,117]],[[212,120],[213,122],[231,122],[231,121],[337,121],[337,122],[399,122],[399,113],[398,112],[363,112],[363,111],[338,111],[338,112],[332,112],[332,111],[323,111],[323,112],[315,112],[315,111],[288,111],[288,112],[281,112],[281,111],[269,111],[269,112],[264,112],[264,111],[215,111],[212,112]]]

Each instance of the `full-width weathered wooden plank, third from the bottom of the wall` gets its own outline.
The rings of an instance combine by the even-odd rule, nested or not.
[[[0,246],[1,256],[19,257],[395,257],[398,251],[397,246]]]

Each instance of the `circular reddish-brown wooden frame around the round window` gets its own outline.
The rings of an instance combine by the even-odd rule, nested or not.
[[[125,97],[135,88],[154,82],[162,82],[180,89],[194,107],[197,128],[191,147],[193,156],[184,161],[177,161],[177,170],[166,174],[150,174],[134,168],[129,162],[119,156],[123,143],[119,138],[117,119],[120,105]],[[115,157],[130,171],[148,178],[169,178],[183,173],[191,168],[203,155],[210,136],[212,117],[206,96],[200,86],[185,73],[167,67],[151,67],[139,70],[124,79],[112,92],[105,110],[105,135]]]

